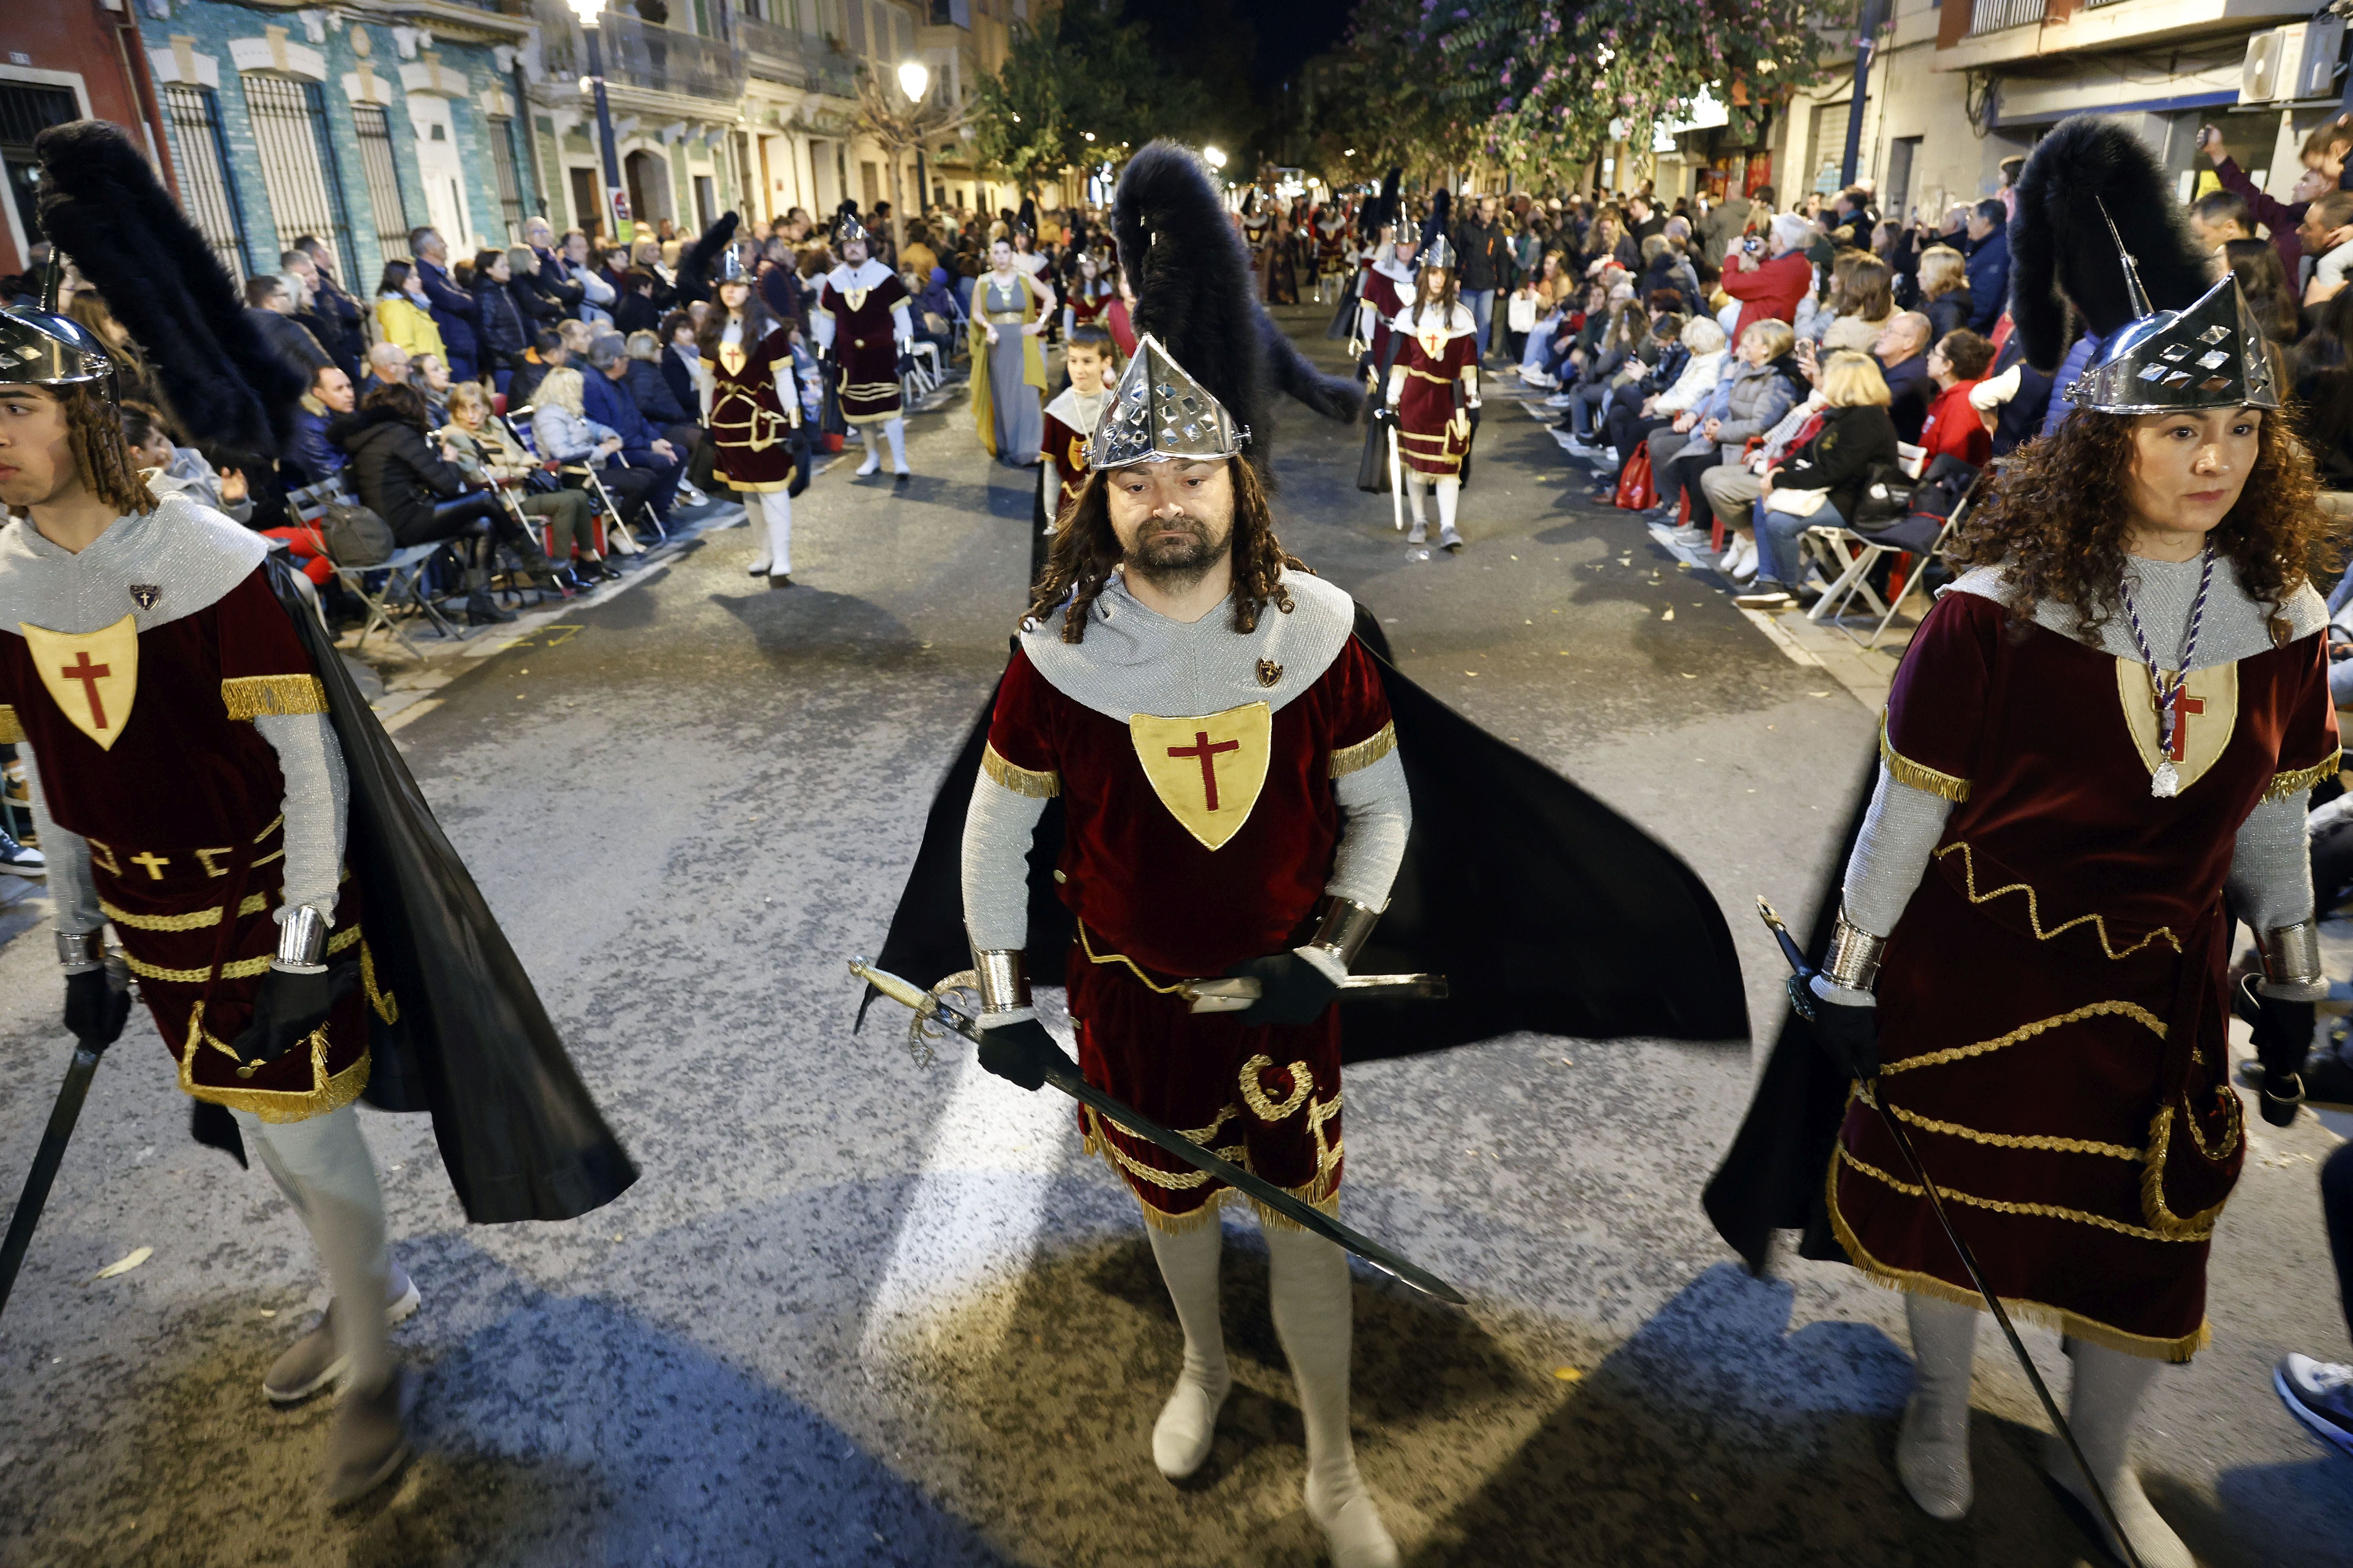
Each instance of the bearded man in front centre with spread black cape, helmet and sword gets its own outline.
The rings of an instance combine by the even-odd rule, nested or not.
[[[1400,677],[1379,623],[1282,550],[1247,430],[1271,423],[1275,386],[1351,418],[1355,383],[1315,374],[1268,320],[1207,165],[1146,146],[1113,228],[1144,336],[880,964],[918,983],[969,966],[981,1065],[1031,1091],[1054,1060],[1071,1067],[1028,994],[1031,973],[1059,980],[1092,1086],[1212,1128],[1233,1164],[1334,1215],[1346,1060],[1520,1027],[1741,1034],[1729,933],[1689,867]],[[1393,886],[1412,907],[1384,917]],[[1332,1001],[1367,952],[1447,973],[1452,999],[1344,1032]],[[1553,961],[1534,973],[1527,952]],[[1261,997],[1193,1011],[1207,976],[1257,978]],[[1078,1131],[1134,1194],[1176,1307],[1184,1371],[1151,1458],[1186,1479],[1233,1382],[1233,1187],[1092,1110]],[[1257,1215],[1308,1516],[1337,1568],[1388,1568],[1398,1547],[1348,1427],[1348,1262]]]

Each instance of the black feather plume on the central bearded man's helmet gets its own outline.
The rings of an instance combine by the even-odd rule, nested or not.
[[[1160,339],[1233,423],[1249,428],[1249,465],[1261,480],[1271,477],[1273,388],[1318,414],[1355,418],[1362,393],[1308,364],[1259,303],[1249,254],[1200,155],[1153,141],[1127,160],[1111,233],[1136,289],[1134,329]]]

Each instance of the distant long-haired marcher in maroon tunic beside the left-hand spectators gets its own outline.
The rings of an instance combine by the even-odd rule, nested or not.
[[[732,219],[727,214],[722,223]],[[744,496],[753,543],[746,571],[767,578],[769,588],[791,588],[793,496],[809,482],[800,374],[793,364],[793,334],[767,313],[767,301],[732,244],[718,249],[718,299],[694,331],[694,353],[706,371],[699,378],[704,428],[718,449],[711,465]],[[845,388],[845,407],[847,395]],[[875,449],[868,447],[861,473],[871,473],[873,463]]]

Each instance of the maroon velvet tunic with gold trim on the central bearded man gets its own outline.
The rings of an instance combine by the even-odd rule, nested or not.
[[[1386,755],[1388,693],[1351,637],[1313,686],[1273,712],[1266,741],[1252,741],[1235,715],[1245,710],[1198,719],[1205,738],[1188,743],[1202,748],[1198,780],[1181,766],[1165,776],[1198,820],[1245,813],[1217,849],[1146,778],[1139,748],[1167,736],[1146,741],[1075,703],[1024,654],[998,691],[986,766],[1052,780],[1045,788],[1064,797],[1056,882],[1078,914],[1068,994],[1087,1081],[1332,1206],[1341,1178],[1337,1013],[1325,1009],[1299,1027],[1245,1027],[1233,1016],[1195,1016],[1174,992],[1179,980],[1221,976],[1313,933],[1341,835],[1332,778]],[[1235,780],[1259,762],[1252,745],[1266,745],[1266,778],[1238,799]],[[1212,780],[1221,795],[1209,792]],[[1207,1222],[1224,1201],[1224,1182],[1085,1107],[1080,1131],[1162,1229]]]

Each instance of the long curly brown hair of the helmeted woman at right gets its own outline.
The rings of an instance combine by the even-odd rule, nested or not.
[[[2118,611],[2125,578],[2134,423],[2132,414],[2075,409],[2057,433],[2019,447],[1953,529],[1951,557],[1965,567],[2002,567],[2021,616],[2049,597],[2073,609],[2085,628],[2101,625]],[[2247,487],[2212,543],[2247,597],[2273,607],[2273,618],[2334,543],[2334,527],[2313,494],[2313,456],[2297,440],[2289,414],[2266,414]]]

